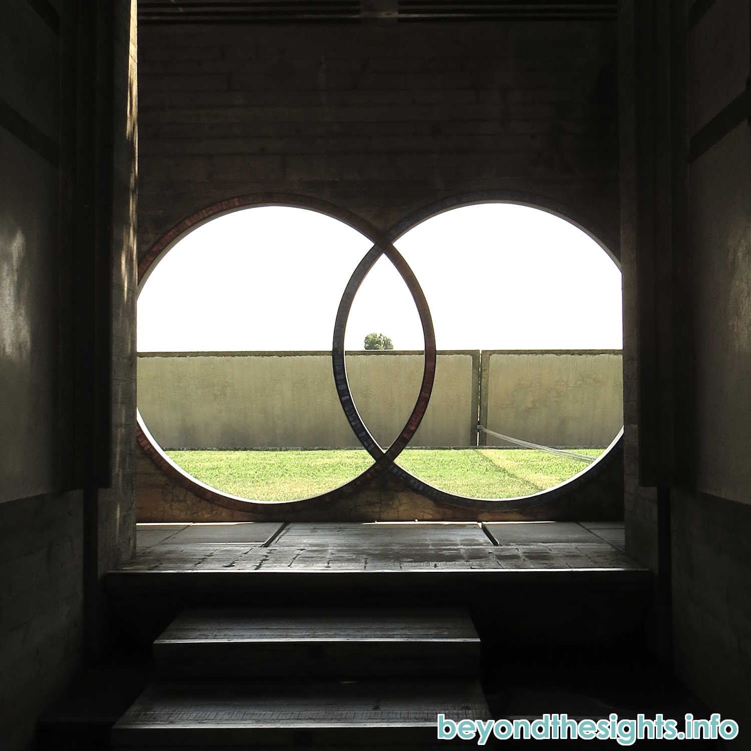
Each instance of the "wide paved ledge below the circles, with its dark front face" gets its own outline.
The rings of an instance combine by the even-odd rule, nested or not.
[[[614,523],[139,525],[105,575],[113,628],[149,646],[185,608],[466,608],[483,641],[612,641],[651,575]]]

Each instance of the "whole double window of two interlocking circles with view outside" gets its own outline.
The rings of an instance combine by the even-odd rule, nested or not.
[[[599,462],[622,424],[620,271],[602,246],[499,201],[385,234],[332,213],[228,202],[143,259],[152,458],[204,497],[276,502],[378,476],[518,498]],[[394,349],[364,350],[371,333]]]

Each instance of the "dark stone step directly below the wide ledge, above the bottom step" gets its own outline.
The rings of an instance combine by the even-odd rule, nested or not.
[[[476,676],[480,639],[458,609],[183,611],[154,642],[167,676]]]

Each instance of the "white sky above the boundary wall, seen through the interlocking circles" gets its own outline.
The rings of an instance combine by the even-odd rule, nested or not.
[[[336,309],[369,240],[289,207],[192,231],[138,300],[139,351],[330,350]],[[584,232],[514,204],[454,209],[394,243],[420,282],[439,349],[620,349],[620,270]],[[207,256],[213,261],[205,265]],[[357,291],[345,347],[366,333],[422,349],[415,303],[387,258]]]

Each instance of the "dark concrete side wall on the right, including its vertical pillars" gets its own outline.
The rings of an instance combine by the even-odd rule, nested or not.
[[[623,2],[620,11],[626,547],[655,572],[656,650],[743,728],[749,4]]]

